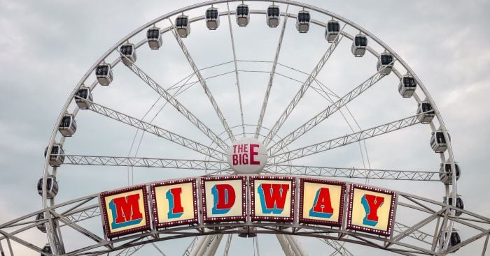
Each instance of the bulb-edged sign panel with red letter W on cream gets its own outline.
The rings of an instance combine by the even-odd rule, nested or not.
[[[251,176],[250,188],[252,220],[293,221],[293,177]]]

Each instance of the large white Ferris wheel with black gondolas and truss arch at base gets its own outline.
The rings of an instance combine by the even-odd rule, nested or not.
[[[255,158],[236,153],[252,144]],[[484,255],[490,234],[489,218],[464,209],[451,138],[414,70],[358,24],[295,1],[207,1],[132,31],[76,84],[45,157],[43,209],[0,225],[6,255],[10,241],[41,255],[228,255],[247,237],[244,255],[446,255],[473,241]],[[347,210],[338,225],[302,222],[294,193],[287,221],[249,218],[246,202],[243,219],[204,221],[204,183],[237,176],[244,187],[290,179],[302,199],[307,182],[340,182],[351,210],[354,188],[389,191],[387,231],[350,228]],[[115,236],[100,227],[100,192],[162,180],[202,188],[193,222],[160,229],[148,218],[148,230]],[[28,229],[47,243],[16,236]]]

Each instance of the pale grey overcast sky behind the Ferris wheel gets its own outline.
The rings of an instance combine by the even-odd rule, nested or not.
[[[4,195],[0,198],[0,223],[40,209],[41,198],[36,193],[35,185],[43,170],[43,151],[66,98],[80,77],[87,72],[87,68],[127,33],[155,17],[193,3],[197,1],[0,0],[0,192]],[[360,24],[381,38],[412,67],[435,100],[451,134],[455,158],[463,172],[458,181],[458,193],[463,196],[465,209],[490,216],[490,202],[486,198],[486,188],[490,180],[487,170],[490,149],[487,128],[490,124],[490,114],[487,111],[490,107],[490,17],[487,12],[490,10],[490,1],[311,0],[305,3]],[[268,3],[251,3],[251,9],[264,10],[267,5]],[[230,6],[235,8],[236,3],[231,3]],[[222,4],[217,7],[223,11],[226,6]],[[285,10],[286,6],[281,8]],[[204,9],[200,9],[190,13],[190,16],[201,15],[203,11]],[[297,13],[297,8],[291,7],[290,12]],[[325,16],[317,17],[326,21]],[[237,27],[233,18],[237,58],[272,61],[280,28],[267,28],[263,15],[252,16],[251,24],[247,28]],[[321,28],[311,28],[307,35],[299,35],[293,25],[294,22],[290,20],[279,62],[310,73],[328,43],[323,38]],[[160,26],[167,27],[168,23],[164,22]],[[203,22],[193,24],[189,38],[184,41],[200,68],[232,60],[226,17],[221,17],[218,31],[208,31]],[[374,57],[366,54],[363,59],[354,58],[349,50],[350,41],[341,42],[323,72],[318,75],[318,79],[339,96],[375,72]],[[138,52],[138,58],[137,65],[147,70],[165,88],[192,72],[170,33],[165,35],[161,50],[152,52],[147,45],[143,45]],[[232,68],[232,64],[228,64],[216,70],[203,71],[203,75],[209,77]],[[268,72],[270,63],[239,63],[239,69]],[[278,72],[287,73],[297,80],[305,78],[287,68]],[[114,74],[115,82],[109,88],[98,86],[94,91],[94,101],[141,118],[158,96],[122,65],[114,69]],[[255,124],[258,119],[267,79],[267,73],[240,74],[246,123]],[[195,77],[190,81],[195,81]],[[280,86],[274,84],[274,89],[279,89],[273,90],[272,93],[275,94],[270,98],[264,122],[268,128],[272,127],[300,86],[284,77],[276,77],[274,81]],[[239,125],[234,74],[209,80],[208,83],[211,91],[216,93],[216,100],[230,126]],[[414,114],[414,100],[402,99],[397,89],[398,81],[391,75],[353,103],[353,116],[362,128]],[[179,97],[216,133],[223,132],[199,84]],[[305,97],[311,98],[305,98],[303,101],[306,103],[298,105],[297,112],[290,116],[279,135],[287,135],[290,130],[328,105],[328,102],[314,93],[309,92]],[[158,101],[145,120],[151,120],[150,116],[156,114],[162,104],[161,100]],[[133,128],[88,111],[80,112],[77,120],[79,130],[75,137],[67,140],[67,153],[127,156],[135,132]],[[153,122],[209,143],[172,107],[160,112]],[[292,148],[351,133],[338,113],[332,116],[330,123],[321,127],[323,128],[312,130],[309,137],[305,136],[302,142],[293,144]],[[254,128],[249,128],[248,131],[253,130]],[[239,133],[239,128],[234,131]],[[323,137],[318,140],[318,136]],[[419,125],[408,131],[402,130],[384,138],[373,139],[367,142],[370,164],[373,168],[380,169],[437,171],[440,160],[430,150],[429,138],[430,128]],[[198,153],[169,145],[153,135],[145,135],[141,145],[138,156],[203,159]],[[347,146],[344,151],[336,149],[328,153],[331,154],[305,158],[297,163],[363,167],[358,145]],[[150,174],[146,169],[135,169],[134,183],[202,174],[175,170],[149,172]],[[125,186],[126,174],[125,167],[62,167],[59,172],[60,193],[57,202]],[[370,183],[442,200],[443,186],[439,182]],[[435,194],[433,191],[436,191]],[[33,239],[31,242],[36,246],[44,243],[42,234],[29,235],[27,238]],[[273,249],[268,248],[268,239],[262,242],[259,239],[260,250],[263,250],[264,255],[271,255],[270,253],[279,249],[276,242]],[[188,241],[190,240],[176,243],[184,245]],[[320,244],[321,242],[311,239],[302,240],[302,243],[308,246],[309,252],[314,252],[316,248],[322,248],[327,253],[332,251]],[[164,248],[168,245],[168,242],[162,243]],[[241,255],[250,255],[251,241],[241,241],[235,245],[232,248],[235,252],[233,255],[239,255],[239,252]],[[355,246],[352,251],[354,254],[364,252],[363,248]],[[182,250],[169,249],[169,255],[181,252]],[[473,249],[464,252],[470,253]],[[384,252],[377,250],[372,253],[384,255]]]

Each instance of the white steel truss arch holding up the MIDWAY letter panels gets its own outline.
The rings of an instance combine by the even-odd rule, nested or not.
[[[292,255],[301,255],[301,250],[298,249],[297,246],[295,247],[295,244],[290,242],[290,239],[288,239],[289,235],[312,236],[320,239],[330,239],[328,241],[330,241],[331,243],[335,243],[332,244],[332,246],[337,249],[339,249],[339,247],[337,247],[338,243],[332,241],[357,243],[364,246],[371,246],[382,250],[388,250],[393,253],[400,253],[402,255],[444,255],[445,253],[450,253],[454,250],[457,250],[458,248],[461,248],[462,246],[468,245],[468,243],[471,243],[472,241],[475,241],[477,239],[484,239],[484,236],[488,236],[490,234],[490,229],[488,229],[488,226],[490,225],[489,218],[479,216],[469,211],[461,210],[461,212],[463,213],[462,216],[448,216],[447,218],[454,220],[460,226],[476,230],[477,233],[463,239],[463,241],[461,241],[458,246],[448,248],[447,250],[444,250],[442,252],[437,252],[435,247],[432,247],[433,243],[438,242],[437,239],[433,239],[434,236],[427,234],[422,230],[422,228],[426,225],[429,225],[430,223],[434,223],[435,221],[440,220],[440,218],[445,218],[447,214],[450,213],[450,211],[448,210],[452,211],[454,209],[454,206],[442,204],[441,202],[436,202],[432,199],[409,195],[407,193],[399,192],[398,195],[400,199],[406,199],[404,201],[407,201],[400,202],[399,199],[398,208],[409,207],[414,211],[423,213],[426,217],[422,217],[420,214],[417,214],[416,216],[420,216],[416,217],[416,219],[419,219],[419,222],[414,225],[403,225],[400,223],[399,220],[397,223],[395,223],[393,237],[377,236],[372,234],[365,234],[363,232],[352,232],[348,229],[334,229],[332,227],[322,227],[318,225],[309,227],[308,225],[299,225],[298,223],[253,223],[253,227],[255,227],[254,232],[256,234],[280,234],[281,236],[286,235],[284,237],[286,243],[282,241],[281,244],[286,244],[288,248],[286,249],[286,251],[290,250],[292,252]],[[212,254],[214,250],[213,248],[216,248],[216,246],[219,244],[218,240],[216,240],[217,237],[223,234],[239,233],[241,232],[241,229],[251,227],[248,223],[208,223],[186,227],[171,227],[165,230],[153,230],[151,232],[132,234],[130,236],[123,236],[117,239],[106,241],[94,235],[94,232],[85,229],[85,227],[82,226],[83,223],[75,225],[75,222],[69,219],[69,216],[73,215],[74,213],[85,211],[87,209],[90,209],[91,207],[98,207],[85,205],[95,198],[97,198],[97,195],[90,195],[81,199],[74,199],[66,203],[55,205],[48,210],[51,214],[53,214],[53,220],[65,223],[64,229],[73,228],[81,234],[84,234],[85,236],[88,236],[95,241],[95,243],[90,246],[87,246],[85,248],[78,248],[76,250],[66,253],[66,255],[104,255],[106,253],[116,251],[120,251],[120,255],[130,255],[135,250],[139,250],[139,248],[141,248],[141,246],[146,243],[155,243],[157,241],[179,239],[188,236],[202,237],[202,239],[200,239],[200,241],[202,241],[202,246],[191,246],[194,247],[195,252],[198,253],[197,255],[200,255],[199,252],[205,253],[206,251],[207,253]],[[62,211],[63,209],[65,210]],[[56,213],[54,212],[55,210],[61,213]],[[41,222],[45,223],[45,221],[47,220],[40,220],[38,223],[27,221],[31,220],[31,218],[34,218],[39,212],[42,211],[37,211],[22,218],[18,218],[17,220],[14,220],[7,224],[0,225],[0,241],[2,241],[3,239],[9,239],[9,241],[17,241],[34,251],[41,250],[41,248],[31,246],[29,242],[15,236],[15,234],[27,230],[25,227],[20,227],[20,229],[13,232],[5,231],[6,228],[13,228],[20,225],[28,225],[29,228],[35,228],[37,224]],[[413,220],[410,221],[412,222]],[[422,243],[412,243],[411,239],[417,239]],[[228,240],[230,240],[230,238],[228,238]],[[344,252],[344,255],[349,254]]]

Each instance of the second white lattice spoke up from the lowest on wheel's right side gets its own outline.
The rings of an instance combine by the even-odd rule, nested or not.
[[[353,142],[358,142],[361,140],[366,140],[371,137],[377,137],[385,133],[391,133],[395,130],[400,130],[402,128],[407,128],[409,126],[414,126],[416,123],[420,123],[419,116],[426,114],[423,112],[421,114],[415,114],[413,116],[406,117],[405,119],[399,119],[397,121],[392,121],[390,123],[385,123],[380,126],[375,126],[366,130],[360,130],[356,133],[351,133],[342,137],[337,137],[332,140],[326,140],[324,142],[319,142],[309,146],[304,146],[299,149],[293,149],[291,151],[278,153],[270,157],[270,163],[284,163],[290,160],[303,158],[305,156],[311,156],[316,153],[321,153],[330,149],[335,149],[339,146],[345,146]]]

